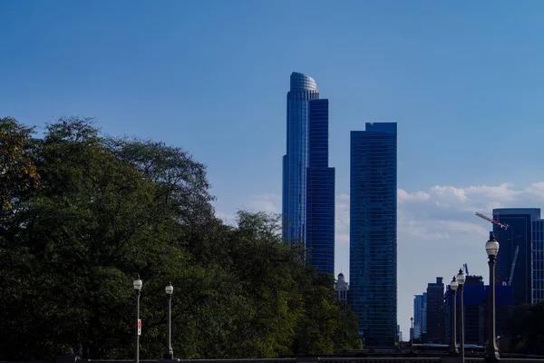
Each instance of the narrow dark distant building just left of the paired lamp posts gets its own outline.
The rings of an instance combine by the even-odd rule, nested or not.
[[[427,342],[445,342],[444,283],[441,277],[427,285]]]

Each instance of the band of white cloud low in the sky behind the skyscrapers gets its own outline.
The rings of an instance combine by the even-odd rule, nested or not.
[[[426,240],[480,239],[491,230],[491,225],[476,217],[476,211],[491,216],[495,208],[539,207],[544,204],[544,182],[526,188],[515,188],[508,182],[466,188],[435,185],[426,191],[399,189],[397,195],[399,240],[408,238],[425,243]],[[240,208],[280,213],[281,196],[275,193],[251,195],[242,201]],[[235,222],[234,212],[217,211],[216,215],[228,224]],[[349,243],[349,222],[349,194],[340,194],[335,198],[337,243]]]

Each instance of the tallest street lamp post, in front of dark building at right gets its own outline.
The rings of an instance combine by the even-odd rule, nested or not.
[[[490,232],[490,240],[485,244],[485,250],[490,265],[489,337],[485,348],[485,361],[486,363],[496,363],[499,362],[499,348],[497,348],[497,342],[495,341],[495,260],[497,259],[497,253],[499,253],[499,242],[495,240],[493,232]]]

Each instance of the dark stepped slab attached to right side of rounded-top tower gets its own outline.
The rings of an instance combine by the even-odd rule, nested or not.
[[[328,167],[328,100],[310,101],[306,249],[320,272],[335,273],[335,168]]]

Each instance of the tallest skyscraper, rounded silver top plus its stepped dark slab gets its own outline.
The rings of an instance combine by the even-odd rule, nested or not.
[[[328,167],[328,100],[316,81],[291,74],[287,93],[287,154],[283,157],[283,237],[302,243],[307,262],[335,272],[335,169]]]

